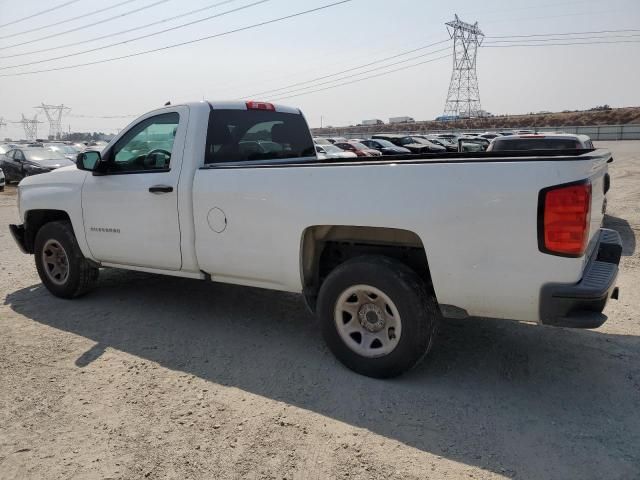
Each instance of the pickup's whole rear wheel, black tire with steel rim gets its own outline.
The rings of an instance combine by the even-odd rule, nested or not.
[[[424,280],[388,257],[362,256],[333,270],[318,296],[322,332],[348,368],[398,376],[429,351],[440,313]]]

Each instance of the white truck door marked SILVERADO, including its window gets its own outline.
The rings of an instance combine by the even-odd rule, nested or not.
[[[82,188],[87,243],[101,262],[182,266],[178,179],[188,107],[149,114],[103,152],[106,171]]]

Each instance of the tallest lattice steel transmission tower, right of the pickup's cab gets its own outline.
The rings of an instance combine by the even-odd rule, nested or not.
[[[447,31],[453,39],[453,73],[449,84],[444,117],[475,118],[482,116],[480,108],[480,89],[476,74],[476,56],[482,44],[484,33],[478,28],[478,22],[471,25],[455,16],[447,22]]]

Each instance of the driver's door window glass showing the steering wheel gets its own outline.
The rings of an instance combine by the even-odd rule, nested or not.
[[[114,145],[110,171],[141,172],[167,170],[180,115],[163,113],[146,118]]]

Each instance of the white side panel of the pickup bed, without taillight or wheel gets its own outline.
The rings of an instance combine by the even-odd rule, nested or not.
[[[610,158],[595,150],[207,165],[193,186],[196,257],[214,280],[300,292],[307,229],[406,230],[424,246],[438,302],[474,316],[537,319],[543,285],[578,282],[588,259],[539,251],[538,194],[591,179],[591,252]],[[208,224],[214,209],[227,222],[222,233]]]

